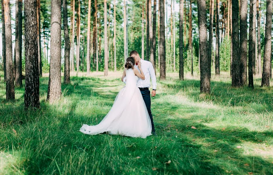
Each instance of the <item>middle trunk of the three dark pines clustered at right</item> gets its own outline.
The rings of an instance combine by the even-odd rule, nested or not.
[[[247,56],[248,56],[248,1],[241,0],[241,8],[240,8],[240,57],[241,62],[243,63],[243,85],[247,85]]]

